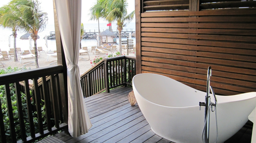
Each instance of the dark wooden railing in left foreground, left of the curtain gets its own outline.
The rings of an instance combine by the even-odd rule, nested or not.
[[[1,142],[32,142],[68,128],[63,123],[67,104],[66,95],[60,94],[60,87],[64,86],[62,73],[62,66],[57,65],[0,75],[0,85],[5,89],[0,105],[6,101],[7,107],[3,112],[3,105],[0,107]],[[33,85],[29,83],[31,79]]]

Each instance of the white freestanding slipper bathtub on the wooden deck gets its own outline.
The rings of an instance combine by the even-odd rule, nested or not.
[[[206,93],[157,74],[138,74],[132,80],[137,103],[157,135],[176,143],[200,143]],[[213,96],[211,101],[213,101]],[[256,92],[217,96],[218,142],[222,143],[248,121]],[[211,112],[211,111],[210,111]],[[216,141],[215,112],[210,113],[209,142]]]

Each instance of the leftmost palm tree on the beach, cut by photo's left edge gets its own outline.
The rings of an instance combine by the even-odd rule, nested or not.
[[[16,38],[17,38],[17,30],[19,28],[19,23],[23,21],[20,19],[19,16],[20,12],[16,9],[15,6],[11,5],[4,5],[0,8],[0,25],[4,28],[9,28],[12,30],[14,37],[14,62],[18,61],[17,52],[16,52]]]

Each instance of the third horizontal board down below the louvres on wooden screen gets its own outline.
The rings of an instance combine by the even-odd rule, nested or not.
[[[141,23],[141,27],[256,29],[248,23]]]

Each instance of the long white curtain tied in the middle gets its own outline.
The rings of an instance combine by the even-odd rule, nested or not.
[[[55,0],[68,75],[68,129],[72,137],[86,134],[92,124],[83,100],[78,67],[81,0]]]

